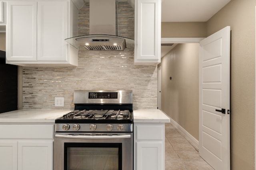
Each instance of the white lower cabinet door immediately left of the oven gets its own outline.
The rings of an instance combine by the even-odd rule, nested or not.
[[[53,142],[18,142],[18,170],[52,170]]]

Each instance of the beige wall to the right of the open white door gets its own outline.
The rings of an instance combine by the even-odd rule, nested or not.
[[[207,21],[207,35],[231,27],[231,167],[254,170],[255,0],[231,0]]]

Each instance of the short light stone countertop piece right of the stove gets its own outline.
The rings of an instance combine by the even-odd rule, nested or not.
[[[134,123],[170,123],[170,118],[159,109],[138,109],[133,111]]]

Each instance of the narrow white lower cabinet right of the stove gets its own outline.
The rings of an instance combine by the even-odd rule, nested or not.
[[[164,123],[134,123],[134,170],[164,170]]]

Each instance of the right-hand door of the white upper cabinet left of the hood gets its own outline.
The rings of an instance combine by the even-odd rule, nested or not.
[[[38,2],[38,61],[67,61],[68,2]]]

